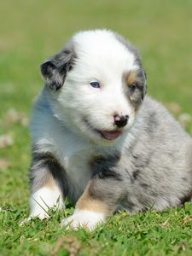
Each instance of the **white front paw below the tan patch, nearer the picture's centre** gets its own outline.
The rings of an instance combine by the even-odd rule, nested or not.
[[[94,230],[96,225],[105,221],[105,216],[102,212],[91,212],[86,210],[75,210],[72,216],[64,218],[61,221],[61,226],[67,226],[73,230],[83,227],[88,230]]]

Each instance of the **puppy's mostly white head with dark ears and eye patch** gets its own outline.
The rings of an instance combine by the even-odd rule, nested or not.
[[[129,131],[146,93],[137,50],[106,30],[79,32],[41,65],[55,116],[94,143]]]

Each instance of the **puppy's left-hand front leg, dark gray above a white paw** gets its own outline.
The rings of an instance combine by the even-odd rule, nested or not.
[[[34,154],[30,171],[30,215],[26,220],[48,218],[49,208],[64,207],[63,170],[53,155]]]

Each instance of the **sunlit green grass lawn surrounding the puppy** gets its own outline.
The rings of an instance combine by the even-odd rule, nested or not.
[[[96,231],[61,229],[66,211],[19,226],[28,214],[30,137],[9,109],[30,118],[43,81],[38,66],[73,32],[108,27],[136,44],[148,74],[148,94],[176,118],[192,115],[192,2],[190,0],[25,1],[0,3],[0,255],[192,255],[192,207],[129,216],[119,212]],[[180,108],[180,109],[179,109]],[[192,135],[189,120],[185,128]],[[1,161],[8,164],[3,167]]]

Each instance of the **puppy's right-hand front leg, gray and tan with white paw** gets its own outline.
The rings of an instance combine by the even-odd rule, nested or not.
[[[105,221],[118,208],[122,192],[119,181],[113,178],[91,180],[79,198],[73,215],[63,219],[61,225],[94,230],[97,224]]]

